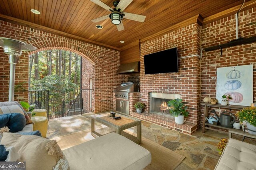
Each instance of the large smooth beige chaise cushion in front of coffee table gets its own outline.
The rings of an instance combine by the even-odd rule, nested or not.
[[[148,150],[110,133],[63,150],[71,170],[142,170],[151,162]]]

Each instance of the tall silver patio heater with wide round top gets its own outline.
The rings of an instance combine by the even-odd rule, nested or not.
[[[22,51],[35,51],[37,48],[18,41],[15,39],[0,37],[0,47],[4,47],[4,53],[9,55],[10,63],[10,82],[9,82],[9,102],[14,101],[14,78],[15,78],[15,64],[17,56],[22,54]]]

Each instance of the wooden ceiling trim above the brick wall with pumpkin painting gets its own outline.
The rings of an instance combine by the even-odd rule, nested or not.
[[[229,8],[228,10],[224,10],[222,12],[219,12],[217,14],[214,14],[212,16],[204,18],[204,20],[202,21],[202,25],[205,25],[205,24],[210,23],[212,21],[220,20],[222,18],[225,18],[225,17],[236,14],[236,12],[238,11],[238,9],[240,8],[241,5],[234,6],[232,8]],[[248,9],[253,8],[255,6],[256,6],[256,1],[255,0],[250,0],[250,1],[244,3],[244,6],[243,6],[242,10],[240,10],[240,12],[244,11],[244,10],[248,10]]]

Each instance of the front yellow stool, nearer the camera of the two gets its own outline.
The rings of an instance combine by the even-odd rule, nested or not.
[[[48,120],[44,116],[33,116],[33,131],[40,131],[42,137],[46,137]]]

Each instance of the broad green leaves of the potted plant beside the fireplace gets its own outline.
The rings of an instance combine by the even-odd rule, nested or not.
[[[167,105],[170,107],[170,113],[175,117],[178,117],[178,115],[188,116],[188,111],[186,111],[188,106],[184,106],[182,99],[170,100],[167,102]]]

